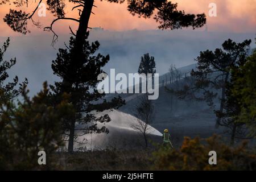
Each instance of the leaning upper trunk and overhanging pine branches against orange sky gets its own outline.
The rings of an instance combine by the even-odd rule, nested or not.
[[[27,28],[28,20],[31,20],[31,22],[34,23],[36,26],[40,26],[39,22],[35,22],[33,20],[33,16],[38,10],[40,3],[44,1],[48,5],[47,9],[57,17],[55,20],[52,21],[49,27],[46,27],[46,29],[52,30],[52,26],[57,20],[73,20],[79,23],[77,34],[81,33],[85,37],[90,14],[92,13],[93,7],[96,7],[93,0],[69,0],[69,2],[74,3],[72,10],[78,10],[79,19],[65,16],[64,9],[67,3],[65,3],[63,0],[39,0],[38,2],[35,2],[35,5],[37,6],[31,14],[23,12],[21,10],[10,9],[9,14],[7,14],[4,18],[5,22],[14,31],[26,34],[27,32],[29,32]],[[108,1],[110,3],[125,2],[125,0],[105,1]],[[8,3],[9,5],[13,4],[18,9],[19,7],[23,6],[31,6],[31,3],[33,2],[34,1],[29,0],[2,0],[0,2],[0,5],[6,3]],[[154,15],[153,18],[156,20],[156,22],[159,22],[158,28],[160,29],[170,28],[171,30],[173,30],[183,27],[198,28],[202,27],[206,23],[205,14],[185,14],[184,11],[177,10],[177,3],[172,3],[167,0],[127,0],[127,10],[132,15],[138,15],[139,17],[143,18],[151,18],[151,16]]]

